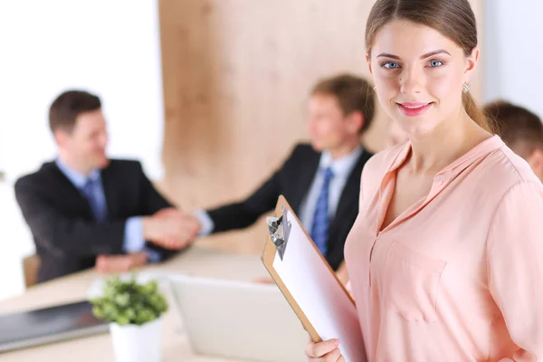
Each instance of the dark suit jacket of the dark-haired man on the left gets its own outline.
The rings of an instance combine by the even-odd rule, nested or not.
[[[17,203],[41,259],[39,282],[93,267],[99,254],[124,253],[127,219],[171,206],[138,161],[111,160],[101,179],[108,205],[108,220],[101,224],[94,220],[87,199],[54,162],[15,183]],[[150,243],[148,247],[161,252],[163,259],[174,253]]]

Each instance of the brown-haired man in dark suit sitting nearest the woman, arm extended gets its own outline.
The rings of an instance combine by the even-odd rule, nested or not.
[[[286,162],[245,200],[199,210],[199,234],[253,224],[284,195],[330,266],[338,270],[343,247],[358,213],[360,176],[370,152],[360,145],[375,113],[367,81],[339,75],[310,93],[310,144],[296,145]]]

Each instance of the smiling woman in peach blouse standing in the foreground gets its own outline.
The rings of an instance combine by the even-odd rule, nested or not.
[[[345,246],[367,360],[542,359],[543,186],[469,94],[470,3],[377,0],[366,39],[378,100],[409,138],[367,162]]]

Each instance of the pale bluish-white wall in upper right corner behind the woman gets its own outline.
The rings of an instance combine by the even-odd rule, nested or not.
[[[543,117],[543,1],[484,6],[484,100],[510,100]]]

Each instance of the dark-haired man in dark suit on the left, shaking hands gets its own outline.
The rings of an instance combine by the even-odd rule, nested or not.
[[[58,158],[15,184],[41,261],[38,281],[96,266],[129,271],[186,247],[191,227],[152,186],[138,161],[106,156],[100,99],[69,90],[52,102],[49,122]],[[146,242],[147,241],[147,242]]]

